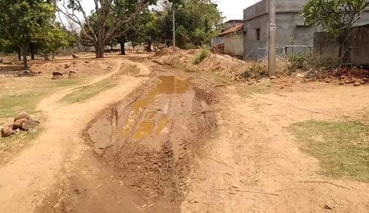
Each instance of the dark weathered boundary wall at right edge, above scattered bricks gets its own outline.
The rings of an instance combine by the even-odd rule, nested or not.
[[[314,33],[314,54],[322,59],[339,59],[342,63],[369,64],[369,24],[353,27],[338,36]]]

